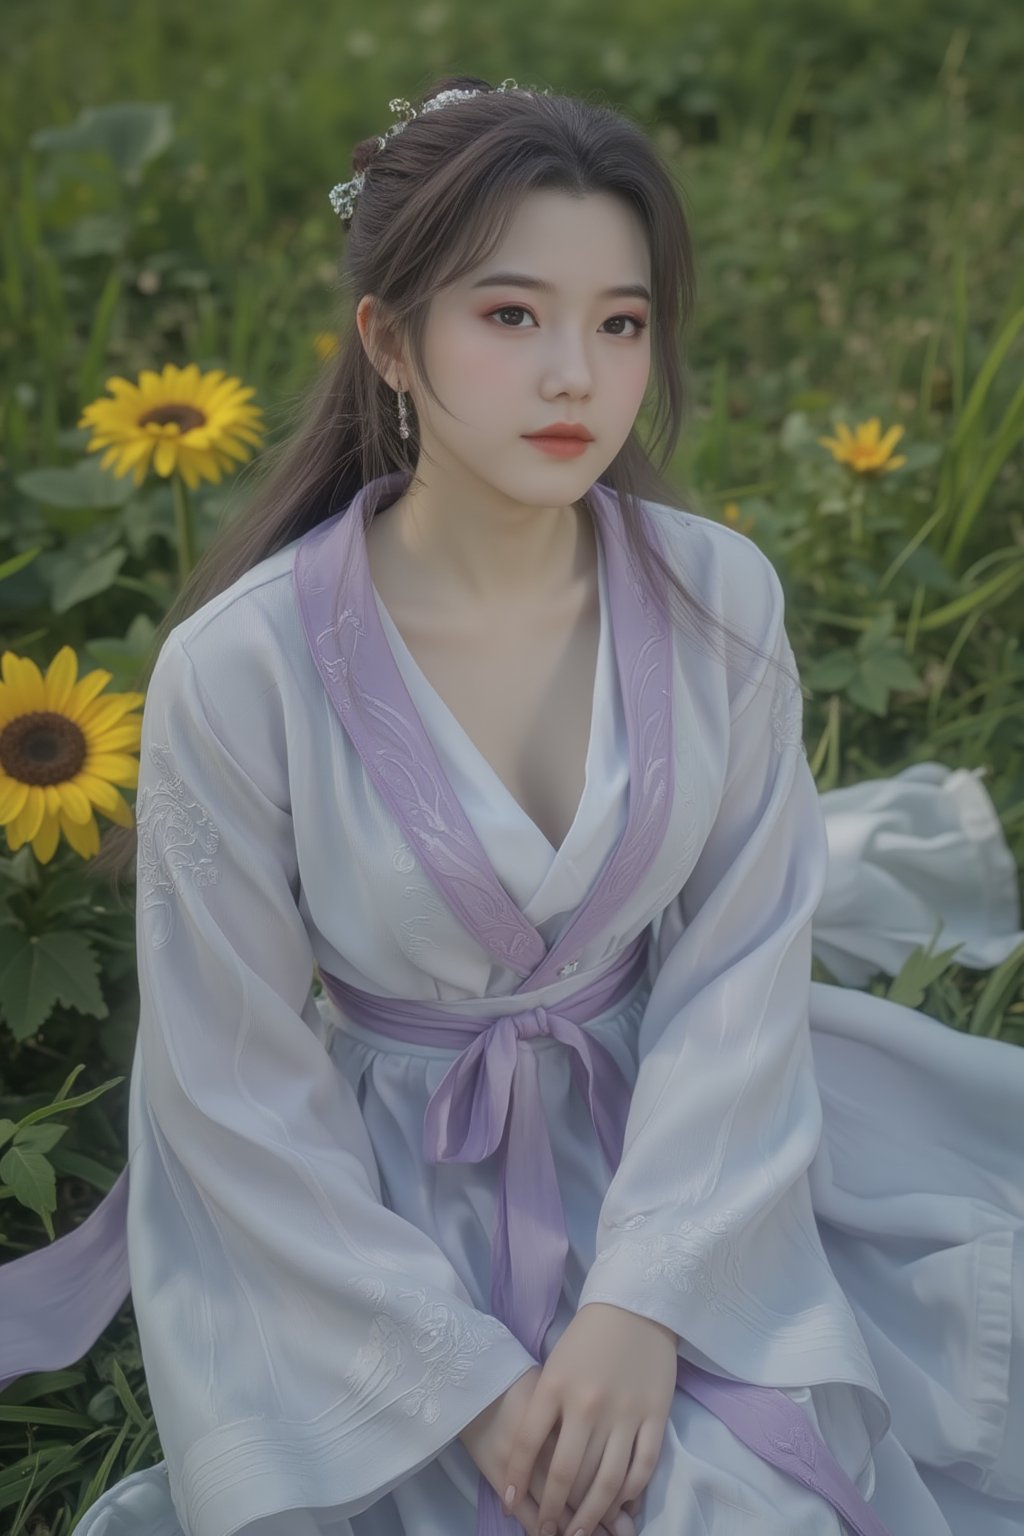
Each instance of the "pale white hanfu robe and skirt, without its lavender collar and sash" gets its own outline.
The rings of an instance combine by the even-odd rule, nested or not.
[[[345,516],[367,493],[379,482]],[[892,1536],[1019,1536],[1024,1051],[811,982],[827,797],[800,691],[765,656],[723,665],[671,630],[659,768],[660,674],[646,651],[628,679],[617,667],[622,515],[605,487],[588,496],[600,644],[583,794],[557,851],[376,593],[367,604],[352,565],[318,565],[339,633],[364,657],[388,651],[445,794],[545,948],[606,876],[648,777],[649,814],[666,816],[651,857],[617,866],[567,974],[517,994],[550,1006],[649,934],[640,983],[586,1025],[631,1084],[614,1175],[565,1048],[519,1043],[536,1052],[570,1243],[545,1356],[588,1301],[656,1318],[691,1362],[797,1401]],[[791,664],[757,545],[657,504],[645,516],[683,582]],[[129,1256],[164,1461],[104,1493],[75,1536],[473,1536],[479,1473],[459,1432],[536,1364],[488,1312],[494,1158],[424,1160],[427,1101],[457,1051],[385,1038],[315,994],[319,968],[494,1018],[524,971],[467,931],[367,773],[302,628],[299,542],[175,628],[146,697]],[[356,548],[365,561],[362,535]],[[987,926],[964,912],[956,931],[953,911],[943,942],[983,965],[1009,954],[1024,938],[1015,876],[978,779],[926,765],[867,796],[837,805],[826,965],[846,955],[863,980],[930,937],[927,888],[901,902],[898,854],[866,851],[886,826],[912,854],[930,846],[940,895],[961,869],[1001,882]],[[442,813],[438,799],[441,843]],[[858,906],[860,868],[874,876]],[[881,960],[864,938],[880,886],[886,915],[906,917]],[[637,1530],[843,1525],[679,1390]]]

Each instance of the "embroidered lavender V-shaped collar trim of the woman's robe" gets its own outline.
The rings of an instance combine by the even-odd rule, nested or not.
[[[629,811],[622,836],[570,926],[551,949],[497,879],[438,759],[387,642],[373,598],[365,515],[407,484],[402,473],[364,485],[318,524],[295,554],[306,637],[327,694],[381,799],[468,932],[528,988],[571,975],[583,946],[637,888],[672,808],[672,637],[625,544],[614,495],[588,493],[602,539],[616,665],[629,736]],[[657,535],[652,531],[652,536]]]

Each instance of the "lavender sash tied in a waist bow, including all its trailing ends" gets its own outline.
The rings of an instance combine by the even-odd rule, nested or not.
[[[597,980],[551,1008],[490,1021],[430,1003],[373,997],[321,972],[324,988],[353,1018],[395,1040],[465,1049],[427,1106],[424,1157],[431,1163],[499,1158],[497,1221],[491,1247],[491,1310],[540,1362],[540,1346],[562,1290],[568,1240],[540,1101],[536,1054],[525,1041],[548,1035],[570,1048],[609,1169],[619,1166],[629,1086],[611,1054],[580,1021],[625,997],[643,972],[637,940]],[[71,1366],[92,1347],[129,1295],[127,1167],[74,1232],[0,1266],[0,1390],[29,1372]],[[774,1387],[714,1376],[680,1359],[677,1384],[765,1461],[826,1499],[855,1536],[890,1536],[846,1476],[798,1404]],[[481,1476],[477,1536],[511,1536]]]

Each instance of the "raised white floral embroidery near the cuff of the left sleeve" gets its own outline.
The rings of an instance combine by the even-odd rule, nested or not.
[[[344,1373],[345,1382],[368,1402],[395,1381],[408,1349],[422,1367],[419,1381],[402,1393],[402,1412],[422,1415],[425,1424],[441,1416],[444,1393],[461,1385],[479,1355],[508,1338],[508,1329],[490,1313],[462,1315],[427,1290],[393,1290],[370,1275],[356,1275],[350,1289],[376,1310],[365,1344]]]

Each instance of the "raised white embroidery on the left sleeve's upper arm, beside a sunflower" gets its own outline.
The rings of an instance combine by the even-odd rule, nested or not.
[[[170,746],[150,742],[147,757],[158,777],[140,779],[135,799],[138,892],[149,942],[161,949],[173,934],[173,899],[183,882],[206,886],[220,880],[213,856],[221,834],[206,806],[189,793]]]

